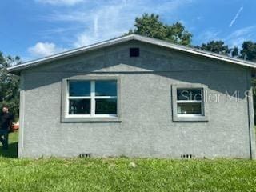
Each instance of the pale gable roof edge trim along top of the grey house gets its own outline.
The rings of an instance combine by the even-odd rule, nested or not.
[[[45,58],[39,58],[30,62],[24,62],[22,64],[16,65],[16,66],[10,66],[7,68],[7,70],[9,72],[12,72],[14,74],[18,74],[20,71],[22,70],[26,70],[30,67],[34,67],[34,66],[39,66],[42,65],[46,62],[53,62],[55,60],[58,60],[60,58],[68,58],[70,56],[74,56],[77,54],[82,54],[85,53],[87,51],[90,50],[97,50],[100,48],[104,48],[107,46],[113,46],[122,42],[128,42],[130,40],[137,40],[140,42],[146,42],[155,46],[162,46],[162,47],[166,47],[172,50],[180,50],[182,52],[186,52],[186,53],[190,53],[190,54],[196,54],[196,55],[200,55],[206,58],[214,58],[217,59],[219,61],[224,61],[224,62],[230,62],[232,64],[236,64],[236,65],[240,65],[240,66],[248,66],[250,68],[254,68],[256,69],[256,63],[255,62],[249,62],[246,60],[242,60],[242,59],[238,59],[238,58],[231,58],[222,54],[215,54],[206,50],[199,50],[199,49],[195,49],[189,46],[180,46],[174,43],[170,43],[170,42],[165,42],[156,38],[147,38],[138,34],[130,34],[130,35],[126,35],[126,36],[122,36],[119,38],[113,38],[104,42],[98,42],[95,44],[92,44],[90,46],[83,46],[81,48],[78,49],[74,49],[74,50],[69,50],[69,51],[65,51],[62,52],[60,54],[54,54],[51,55],[49,57],[45,57]]]

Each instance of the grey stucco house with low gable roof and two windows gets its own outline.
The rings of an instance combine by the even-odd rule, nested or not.
[[[19,158],[255,158],[254,62],[127,35],[10,66]]]

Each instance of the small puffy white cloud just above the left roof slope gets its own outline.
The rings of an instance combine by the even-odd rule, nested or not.
[[[38,42],[28,49],[30,54],[32,54],[35,58],[46,57],[52,54],[58,54],[65,50],[65,48],[58,47],[53,42]]]

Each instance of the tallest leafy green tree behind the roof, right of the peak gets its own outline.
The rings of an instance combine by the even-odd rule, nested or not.
[[[158,14],[143,14],[141,18],[135,18],[134,26],[135,29],[128,34],[140,34],[186,46],[191,43],[192,34],[185,30],[182,23],[176,22],[169,26],[160,21]]]

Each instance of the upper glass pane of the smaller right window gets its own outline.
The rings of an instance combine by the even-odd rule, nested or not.
[[[177,89],[177,100],[202,100],[202,89]]]

